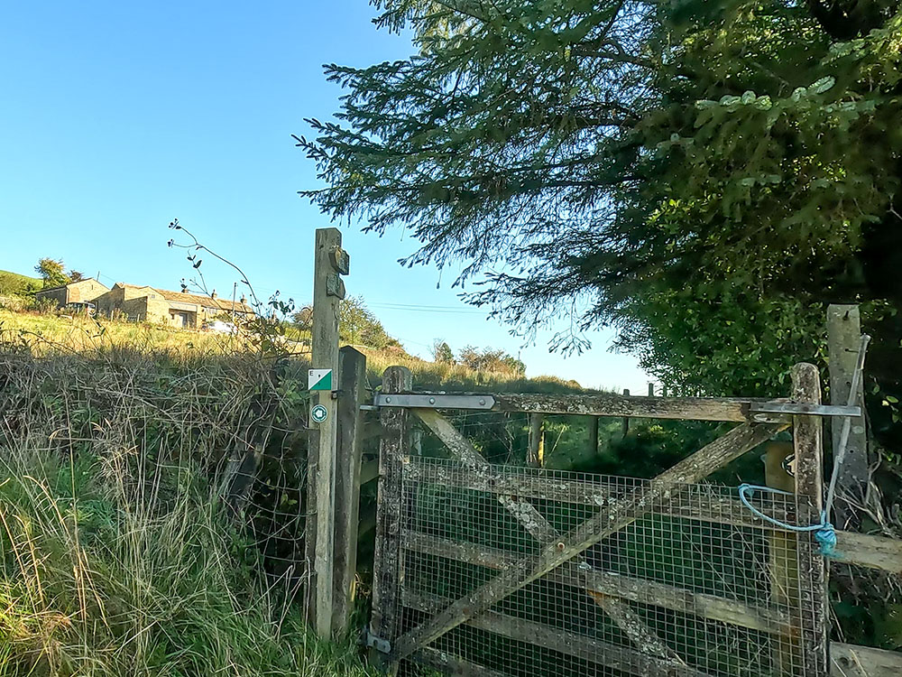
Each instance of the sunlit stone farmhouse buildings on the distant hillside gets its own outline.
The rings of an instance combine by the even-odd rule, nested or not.
[[[97,287],[84,286],[82,281],[67,284],[53,290],[42,290],[36,296],[52,298],[60,307],[75,301],[94,303],[97,315],[107,318],[122,317],[139,322],[169,325],[186,329],[201,329],[214,320],[239,319],[253,315],[247,299],[226,301],[213,292],[209,296],[170,292],[148,286],[115,283],[112,289],[97,283]],[[73,289],[69,289],[69,288]],[[89,291],[93,289],[94,291]],[[78,297],[78,298],[76,298]]]

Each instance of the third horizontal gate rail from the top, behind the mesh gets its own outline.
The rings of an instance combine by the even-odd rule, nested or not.
[[[426,533],[407,532],[403,534],[402,541],[404,548],[412,552],[465,561],[499,571],[511,568],[523,557],[520,553],[500,548],[438,538]],[[732,626],[771,634],[789,635],[793,632],[792,620],[786,608],[743,604],[734,599],[693,592],[653,580],[637,579],[609,571],[585,570],[574,561],[565,562],[543,578],[597,595],[668,608]]]

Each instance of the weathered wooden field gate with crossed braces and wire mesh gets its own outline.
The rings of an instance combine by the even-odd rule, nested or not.
[[[815,366],[791,399],[414,394],[390,367],[368,644],[390,672],[805,675],[828,672],[824,559],[704,478],[792,429],[795,491],[756,496],[788,524],[821,514]],[[442,411],[736,422],[650,480],[490,464]],[[418,456],[414,423],[446,459]]]

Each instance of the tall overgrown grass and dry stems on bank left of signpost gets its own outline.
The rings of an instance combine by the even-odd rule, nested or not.
[[[220,497],[262,366],[4,348],[0,674],[367,673],[308,635],[302,571],[267,568]]]

